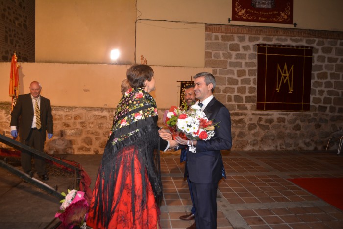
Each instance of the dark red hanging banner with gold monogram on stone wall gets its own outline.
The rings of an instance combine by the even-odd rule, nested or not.
[[[257,44],[256,110],[310,110],[312,48]]]

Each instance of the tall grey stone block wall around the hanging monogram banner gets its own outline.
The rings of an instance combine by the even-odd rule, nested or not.
[[[205,67],[232,116],[232,149],[321,150],[343,128],[342,32],[207,25],[205,37]],[[309,112],[256,110],[256,44],[314,47]]]

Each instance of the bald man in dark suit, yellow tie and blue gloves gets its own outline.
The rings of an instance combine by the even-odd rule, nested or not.
[[[30,93],[19,95],[17,103],[11,113],[11,135],[20,137],[20,142],[36,150],[44,150],[46,133],[52,137],[53,121],[50,100],[40,96],[42,87],[39,82],[30,84]],[[18,129],[19,128],[19,129]],[[31,153],[21,152],[21,164],[25,173],[33,176],[31,171]],[[45,168],[45,159],[33,155],[35,168],[39,178],[49,180]]]

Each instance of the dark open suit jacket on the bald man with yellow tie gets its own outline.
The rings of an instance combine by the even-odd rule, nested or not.
[[[46,139],[48,133],[53,133],[53,121],[51,114],[50,100],[41,96],[41,134],[43,140]],[[34,108],[32,105],[31,94],[23,94],[18,96],[16,106],[11,113],[10,126],[17,126],[19,137],[22,140],[26,140],[30,134],[32,121],[34,117]]]

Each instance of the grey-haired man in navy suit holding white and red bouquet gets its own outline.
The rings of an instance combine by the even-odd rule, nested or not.
[[[211,73],[202,72],[194,76],[196,98],[201,111],[209,120],[218,123],[215,135],[207,140],[184,140],[176,137],[181,145],[196,146],[196,152],[187,152],[188,176],[192,183],[193,198],[196,206],[196,228],[217,228],[217,190],[218,182],[224,176],[221,150],[232,146],[231,118],[227,108],[213,96],[216,86]]]

